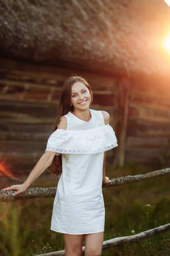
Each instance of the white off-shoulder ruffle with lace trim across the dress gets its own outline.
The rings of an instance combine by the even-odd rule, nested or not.
[[[45,151],[56,154],[97,154],[118,146],[110,125],[79,131],[57,129],[48,139]]]

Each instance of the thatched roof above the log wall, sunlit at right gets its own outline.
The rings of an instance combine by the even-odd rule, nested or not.
[[[0,55],[128,76],[170,71],[163,0],[3,0],[0,13]]]

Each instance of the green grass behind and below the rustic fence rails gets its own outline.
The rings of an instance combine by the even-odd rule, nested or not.
[[[137,163],[115,169],[106,166],[106,175],[110,178],[150,171]],[[32,185],[56,186],[57,181],[57,178],[42,177]],[[102,191],[105,201],[104,240],[130,236],[170,222],[170,175],[103,188]],[[9,203],[8,212],[0,222],[1,256],[34,256],[64,249],[63,235],[50,230],[53,202],[54,198],[35,198]],[[1,216],[7,207],[7,203],[0,203]],[[104,250],[102,255],[169,256],[170,231],[136,244]]]

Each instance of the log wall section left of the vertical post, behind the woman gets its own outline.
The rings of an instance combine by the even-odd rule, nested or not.
[[[44,153],[62,84],[75,73],[91,84],[92,108],[108,111],[115,127],[116,79],[1,59],[0,159],[6,157],[5,164],[15,175],[29,173]],[[108,157],[114,156],[108,151]]]

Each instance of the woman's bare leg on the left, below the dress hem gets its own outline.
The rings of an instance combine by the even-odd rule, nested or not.
[[[83,235],[64,234],[65,256],[82,255],[82,237]]]

